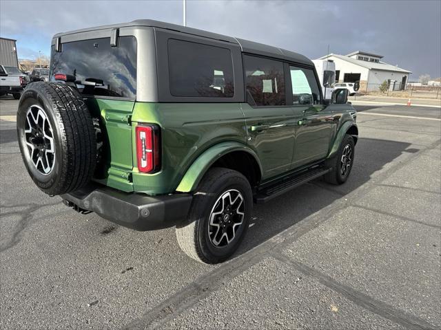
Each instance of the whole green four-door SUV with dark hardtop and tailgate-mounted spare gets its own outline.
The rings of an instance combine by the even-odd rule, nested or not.
[[[17,113],[34,183],[135,230],[176,226],[198,261],[233,254],[253,203],[351,172],[347,89],[323,100],[294,52],[139,20],[56,34],[49,80]]]

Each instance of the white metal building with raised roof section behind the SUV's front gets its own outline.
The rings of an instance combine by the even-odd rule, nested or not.
[[[387,81],[389,89],[405,89],[409,80],[409,70],[381,61],[383,56],[367,52],[353,52],[347,55],[329,54],[336,63],[336,83],[355,83],[360,81],[360,92],[373,91]]]

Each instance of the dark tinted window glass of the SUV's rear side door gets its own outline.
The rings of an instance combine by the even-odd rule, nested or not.
[[[243,56],[248,97],[258,106],[286,104],[283,63],[256,56]]]

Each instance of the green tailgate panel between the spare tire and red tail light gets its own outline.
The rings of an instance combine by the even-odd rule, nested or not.
[[[94,179],[112,188],[133,191],[130,116],[135,102],[88,98],[86,103],[92,115],[101,118],[103,135],[103,167],[97,170]]]

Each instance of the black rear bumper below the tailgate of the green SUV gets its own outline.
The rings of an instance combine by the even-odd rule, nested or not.
[[[192,195],[147,196],[103,186],[87,186],[61,195],[66,205],[88,210],[134,230],[169,228],[187,218]]]

